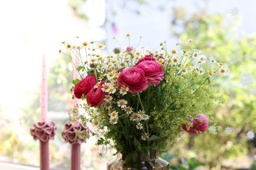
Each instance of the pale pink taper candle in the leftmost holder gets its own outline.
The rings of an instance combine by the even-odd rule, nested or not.
[[[47,97],[47,67],[46,58],[43,56],[42,89],[41,89],[41,114],[40,122],[47,121],[48,97]]]

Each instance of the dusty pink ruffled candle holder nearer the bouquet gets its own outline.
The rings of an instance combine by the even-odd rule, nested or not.
[[[79,170],[81,165],[81,144],[85,143],[84,138],[79,138],[77,133],[83,133],[89,135],[89,129],[83,126],[83,124],[76,122],[68,122],[64,126],[64,130],[61,135],[66,143],[70,143],[71,148],[71,170]]]

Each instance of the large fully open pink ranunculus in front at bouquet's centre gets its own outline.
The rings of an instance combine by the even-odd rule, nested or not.
[[[145,73],[139,67],[124,69],[118,76],[117,82],[119,88],[122,86],[129,87],[129,92],[137,93],[148,88],[148,80]]]

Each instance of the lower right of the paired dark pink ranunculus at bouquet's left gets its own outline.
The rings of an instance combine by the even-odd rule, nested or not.
[[[105,81],[100,82],[100,85],[97,88],[91,88],[87,93],[86,100],[91,107],[101,105],[105,99],[105,95],[108,95],[108,93],[102,92],[101,90],[102,84],[104,83]]]

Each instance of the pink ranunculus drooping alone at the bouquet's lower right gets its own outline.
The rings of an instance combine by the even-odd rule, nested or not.
[[[199,114],[197,118],[195,118],[194,120],[190,120],[190,122],[193,123],[193,126],[190,126],[189,130],[186,124],[182,124],[182,129],[184,129],[184,131],[187,131],[190,134],[195,135],[203,133],[209,125],[209,119],[205,114]]]

